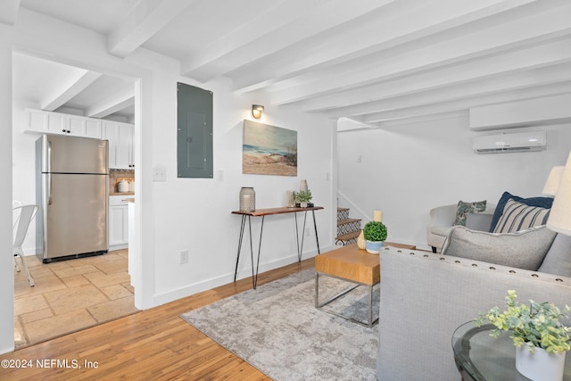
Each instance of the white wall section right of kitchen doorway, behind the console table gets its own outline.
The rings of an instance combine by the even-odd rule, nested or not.
[[[335,234],[331,228],[335,200],[330,189],[334,183],[326,178],[333,155],[331,139],[335,123],[332,120],[272,107],[268,95],[235,95],[228,79],[196,83],[178,76],[176,62],[156,54],[139,52],[129,61],[140,62],[153,70],[153,126],[156,128],[152,132],[152,166],[167,169],[166,182],[152,183],[157,303],[233,280],[241,219],[230,212],[239,209],[241,186],[254,187],[257,208],[270,208],[285,205],[285,191],[298,189],[300,180],[306,178],[314,202],[326,207],[316,212],[320,249],[331,247]],[[177,82],[202,87],[214,94],[214,179],[177,178]],[[244,119],[252,119],[252,104],[265,104],[262,123],[298,131],[297,177],[242,174],[242,125]],[[223,180],[219,179],[220,172],[223,172]],[[310,221],[308,219],[308,223]],[[260,219],[252,219],[254,249],[258,244],[260,222]],[[294,234],[293,215],[265,219],[260,271],[296,260]],[[246,247],[248,242],[244,242],[244,250]],[[178,264],[181,250],[190,253],[186,265]],[[313,230],[310,238],[305,239],[304,252],[303,258],[317,253]],[[238,277],[251,274],[249,253],[243,251]]]

